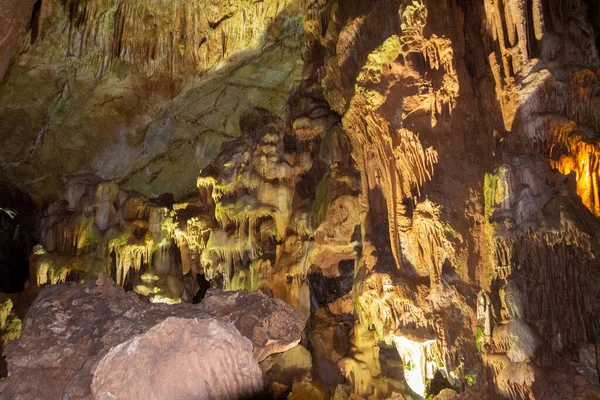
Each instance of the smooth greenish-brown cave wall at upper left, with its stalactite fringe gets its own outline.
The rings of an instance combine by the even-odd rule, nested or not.
[[[281,114],[300,80],[292,1],[39,5],[35,29],[20,35],[10,25],[20,14],[1,17],[14,32],[0,84],[1,175],[37,202],[57,200],[79,173],[151,196],[193,192],[198,171],[240,135],[241,114]]]

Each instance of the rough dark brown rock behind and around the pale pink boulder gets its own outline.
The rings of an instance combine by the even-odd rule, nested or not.
[[[271,354],[264,350],[265,342],[274,341],[278,343],[276,348],[283,350],[283,341],[289,339],[288,345],[294,346],[304,328],[304,317],[279,300],[268,299],[263,293],[249,296],[248,309],[238,313],[231,305],[243,307],[246,295],[213,293],[213,304],[229,305],[231,314],[228,314],[208,307],[200,310],[192,304],[148,304],[135,293],[124,292],[107,277],[85,285],[48,286],[30,308],[20,339],[9,342],[5,348],[9,377],[2,396],[7,400],[24,400],[56,399],[66,394],[73,400],[90,399],[92,374],[102,358],[113,347],[148,331],[170,316],[185,319],[214,317],[233,324],[241,321],[245,332],[251,335],[248,339],[251,342],[259,340],[256,346],[261,349],[257,352],[260,355]],[[275,329],[269,330],[271,336],[264,332],[262,321],[256,317],[266,316],[262,307],[275,307],[277,320],[281,321],[278,326],[284,324],[286,328],[283,334]],[[281,320],[283,315],[288,317],[285,323]],[[254,327],[249,321],[255,323]],[[293,327],[298,328],[295,336],[290,331]]]

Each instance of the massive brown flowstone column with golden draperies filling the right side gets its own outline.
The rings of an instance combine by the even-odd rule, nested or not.
[[[362,331],[342,363],[357,393],[389,395],[381,349],[370,343],[406,327],[418,341],[436,338],[442,374],[470,394],[482,385],[511,398],[590,388],[579,378],[535,383],[576,375],[557,355],[587,351],[597,336],[597,310],[581,302],[597,297],[595,284],[566,283],[566,275],[595,282],[598,268],[597,222],[573,197],[596,212],[598,59],[584,3],[309,5],[325,97],[343,115],[361,172],[353,296]],[[484,100],[493,92],[497,105]],[[575,171],[576,188],[551,168]],[[478,317],[465,285],[482,289]],[[561,329],[558,320],[572,322]],[[541,338],[555,342],[543,355]],[[464,351],[473,339],[483,363]]]

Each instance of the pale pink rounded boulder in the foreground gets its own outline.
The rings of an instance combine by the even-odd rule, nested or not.
[[[262,391],[252,343],[214,319],[169,317],[113,347],[94,371],[95,399],[230,399]]]

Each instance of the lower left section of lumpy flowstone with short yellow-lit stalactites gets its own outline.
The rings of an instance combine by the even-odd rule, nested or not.
[[[174,265],[168,205],[168,199],[152,203],[128,196],[93,175],[71,180],[42,220],[44,246],[30,257],[31,279],[42,286],[110,274],[155,302],[181,301],[185,292]]]

